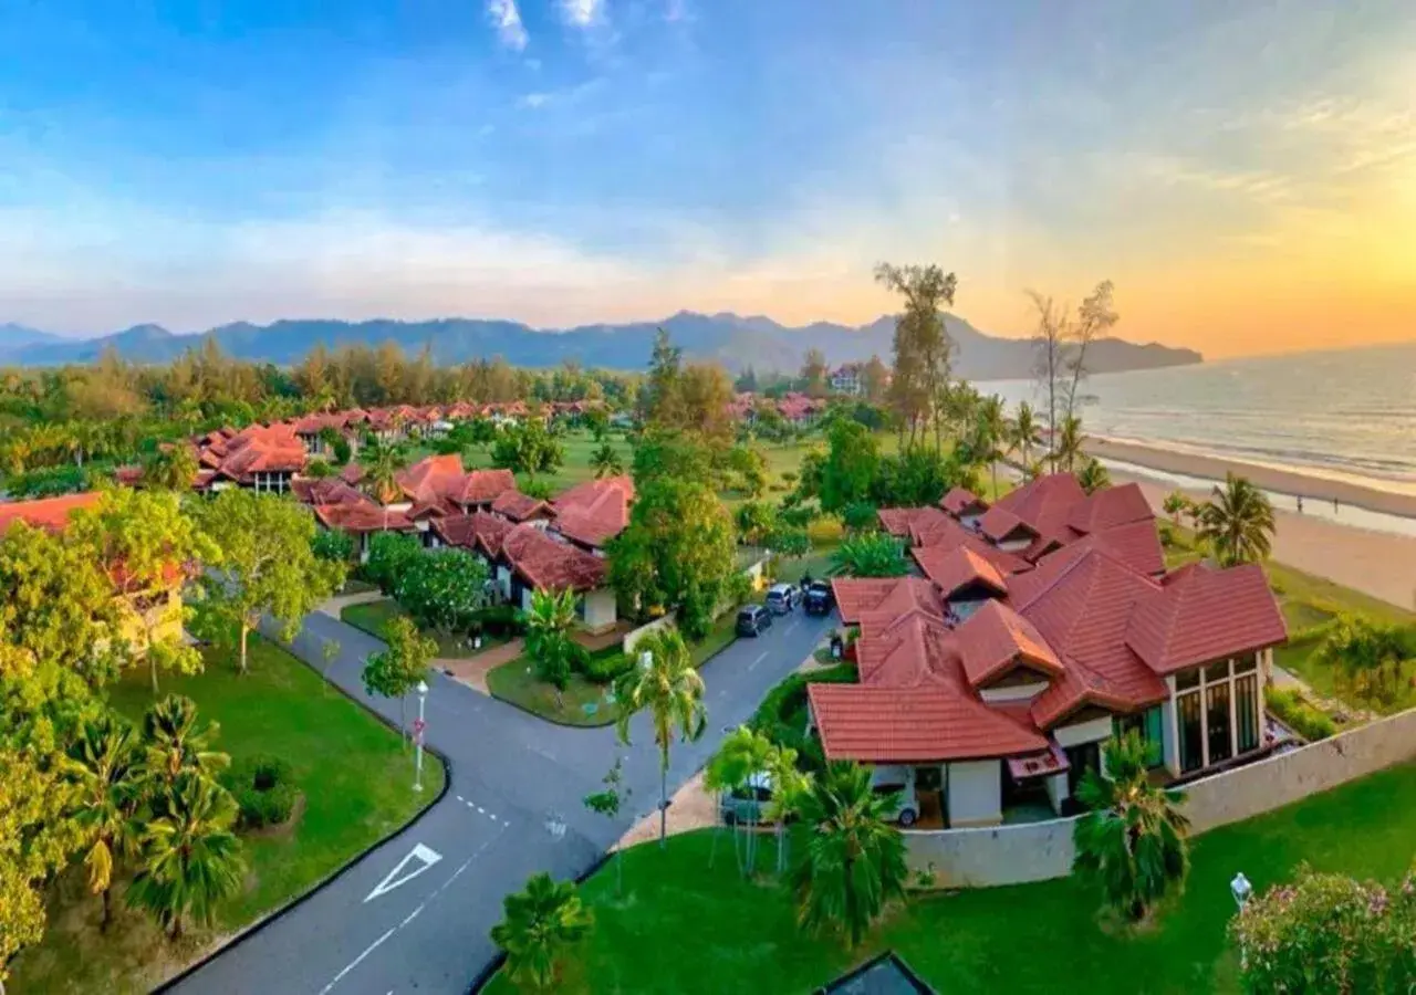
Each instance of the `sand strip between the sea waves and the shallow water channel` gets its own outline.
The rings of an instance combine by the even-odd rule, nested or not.
[[[1321,501],[1328,505],[1337,501],[1341,505],[1365,508],[1366,511],[1416,521],[1416,495],[1413,494],[1382,491],[1375,487],[1364,487],[1328,477],[1314,477],[1255,463],[1180,453],[1158,446],[1123,443],[1112,439],[1087,437],[1085,449],[1090,456],[1100,460],[1117,460],[1136,467],[1185,477],[1223,481],[1225,474],[1232,471],[1247,477],[1256,487],[1266,491],[1301,497],[1307,501]]]

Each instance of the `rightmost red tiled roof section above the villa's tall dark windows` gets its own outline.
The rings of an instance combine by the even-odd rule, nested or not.
[[[1127,645],[1157,674],[1253,652],[1287,637],[1256,563],[1187,572],[1141,603],[1126,630]]]

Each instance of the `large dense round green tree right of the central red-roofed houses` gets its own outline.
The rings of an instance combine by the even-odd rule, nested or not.
[[[732,519],[705,484],[654,478],[643,484],[629,527],[610,542],[610,586],[622,604],[647,614],[674,610],[701,638],[735,572]]]

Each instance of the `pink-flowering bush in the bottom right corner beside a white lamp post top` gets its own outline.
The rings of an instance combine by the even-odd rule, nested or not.
[[[1396,992],[1416,987],[1416,869],[1388,890],[1300,868],[1229,924],[1250,992]]]

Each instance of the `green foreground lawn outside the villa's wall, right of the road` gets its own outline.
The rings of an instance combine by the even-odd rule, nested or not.
[[[773,845],[763,845],[769,869]],[[1257,889],[1306,861],[1391,882],[1416,853],[1416,764],[1403,764],[1194,841],[1184,896],[1140,933],[1102,926],[1095,893],[1072,879],[930,893],[898,907],[854,951],[803,934],[767,876],[743,882],[732,842],[712,831],[634,846],[624,893],[606,865],[582,887],[596,926],[558,992],[809,992],[893,948],[940,992],[1232,992],[1238,955],[1225,940],[1229,880]],[[514,991],[504,977],[489,988]]]

